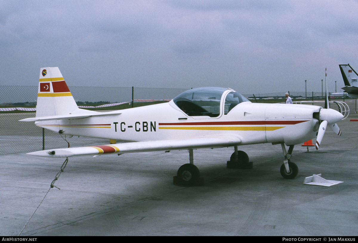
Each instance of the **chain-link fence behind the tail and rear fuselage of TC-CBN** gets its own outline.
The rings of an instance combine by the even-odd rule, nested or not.
[[[137,88],[137,87],[69,87],[78,105],[97,106],[109,103],[132,103],[134,99],[173,99],[188,89]],[[38,86],[0,86],[0,108],[35,108]],[[147,103],[150,104],[150,103]],[[120,109],[130,108],[121,107]],[[113,109],[113,107],[101,108]],[[115,107],[117,109],[117,107]],[[4,110],[4,109],[3,109]],[[63,148],[89,144],[109,143],[109,139],[78,137],[69,138],[35,126],[33,122],[19,120],[35,117],[35,112],[0,111],[0,155],[24,153],[42,149]]]

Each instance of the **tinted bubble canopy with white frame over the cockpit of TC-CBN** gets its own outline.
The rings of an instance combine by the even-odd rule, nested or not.
[[[224,114],[228,114],[234,106],[242,102],[250,102],[238,92],[220,87],[187,90],[176,96],[173,101],[189,116],[210,117],[218,117],[222,109]]]

